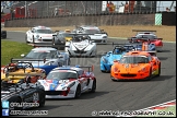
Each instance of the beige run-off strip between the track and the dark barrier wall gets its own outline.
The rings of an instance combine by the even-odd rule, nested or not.
[[[114,25],[114,26],[98,26],[108,33],[109,37],[132,37],[135,32],[132,30],[151,30],[156,31],[156,35],[163,40],[176,42],[176,26],[155,26],[155,25]],[[74,30],[74,26],[51,27],[52,31]],[[24,31],[30,27],[4,27],[5,31]]]

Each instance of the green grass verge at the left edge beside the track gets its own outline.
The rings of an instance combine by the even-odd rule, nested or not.
[[[26,55],[32,48],[25,43],[1,39],[1,66],[8,64],[11,58],[21,58],[21,54]]]

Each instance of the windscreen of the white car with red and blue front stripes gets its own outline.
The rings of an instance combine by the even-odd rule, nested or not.
[[[55,71],[47,75],[47,80],[68,80],[78,79],[78,73],[75,71]]]

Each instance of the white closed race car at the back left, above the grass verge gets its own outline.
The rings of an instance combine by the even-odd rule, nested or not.
[[[50,27],[34,26],[26,32],[25,42],[28,43],[51,43],[55,33]]]

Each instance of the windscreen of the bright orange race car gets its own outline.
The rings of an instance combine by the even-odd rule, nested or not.
[[[149,58],[145,56],[126,56],[120,59],[119,63],[149,63]]]

